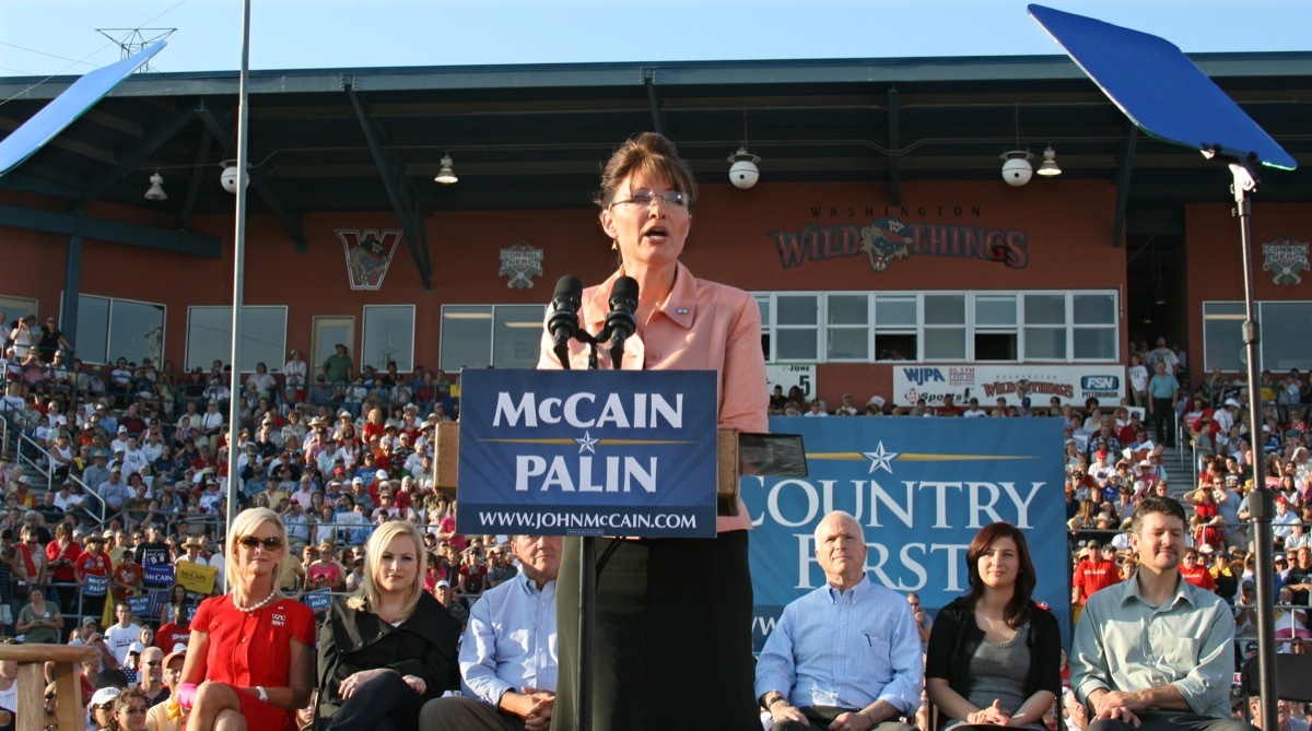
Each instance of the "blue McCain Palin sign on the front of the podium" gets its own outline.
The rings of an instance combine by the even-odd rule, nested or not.
[[[462,533],[711,537],[712,371],[461,375]]]

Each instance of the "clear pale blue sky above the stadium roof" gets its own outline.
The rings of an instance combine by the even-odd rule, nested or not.
[[[1299,51],[1307,0],[1050,0],[1186,52]],[[1060,54],[1021,0],[253,0],[251,67]],[[240,63],[239,0],[0,0],[0,76],[85,73],[98,28],[176,28],[159,71]]]

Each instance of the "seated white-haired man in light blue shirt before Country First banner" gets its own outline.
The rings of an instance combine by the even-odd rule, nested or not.
[[[816,527],[827,584],[783,608],[756,664],[771,731],[913,731],[925,663],[911,605],[866,575],[866,537],[846,512]]]

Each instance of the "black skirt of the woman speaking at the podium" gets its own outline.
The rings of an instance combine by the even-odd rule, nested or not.
[[[618,544],[618,545],[615,545]],[[597,538],[593,728],[758,731],[748,532],[710,540]],[[552,731],[579,727],[580,538],[556,582],[560,675]]]

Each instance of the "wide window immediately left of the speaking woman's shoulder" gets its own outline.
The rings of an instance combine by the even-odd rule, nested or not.
[[[544,305],[446,305],[438,367],[533,368],[544,316]]]

